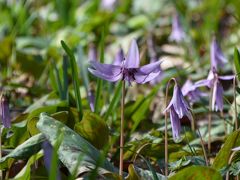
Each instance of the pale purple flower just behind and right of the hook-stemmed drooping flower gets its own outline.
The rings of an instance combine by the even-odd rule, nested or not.
[[[202,96],[206,96],[196,86],[194,86],[191,80],[187,80],[182,86],[183,96],[187,96],[190,103],[195,103],[201,99]]]

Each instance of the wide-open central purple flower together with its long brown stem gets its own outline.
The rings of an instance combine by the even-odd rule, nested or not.
[[[121,52],[120,55],[121,56]],[[118,59],[118,62],[121,60]],[[121,100],[121,133],[120,133],[120,164],[119,175],[123,175],[123,147],[124,147],[124,99],[125,99],[125,81],[131,84],[135,81],[144,84],[156,78],[160,72],[160,63],[157,61],[142,67],[139,67],[140,56],[136,40],[131,42],[126,60],[122,60],[121,64],[102,64],[97,61],[90,62],[89,71],[102,79],[110,82],[122,80],[122,100]]]

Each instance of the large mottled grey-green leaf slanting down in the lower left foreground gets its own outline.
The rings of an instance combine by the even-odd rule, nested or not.
[[[62,163],[68,168],[71,174],[74,173],[78,160],[81,159],[77,174],[88,172],[95,168],[100,152],[79,134],[65,126],[45,113],[40,115],[37,128],[54,145],[59,133],[63,133],[63,141],[59,147],[58,155]],[[99,168],[99,173],[114,172],[114,167],[104,159]]]

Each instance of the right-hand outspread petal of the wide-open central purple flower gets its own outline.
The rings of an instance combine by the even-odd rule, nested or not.
[[[160,63],[161,61],[157,61],[137,69],[137,72],[134,74],[136,82],[144,84],[156,78],[161,73]]]

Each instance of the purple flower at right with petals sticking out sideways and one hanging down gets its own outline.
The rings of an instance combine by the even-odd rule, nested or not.
[[[212,88],[212,104],[211,108],[214,111],[223,110],[223,87],[220,80],[233,80],[234,75],[219,76],[213,68],[210,70],[207,79],[200,80],[195,83],[195,87],[207,86]]]

